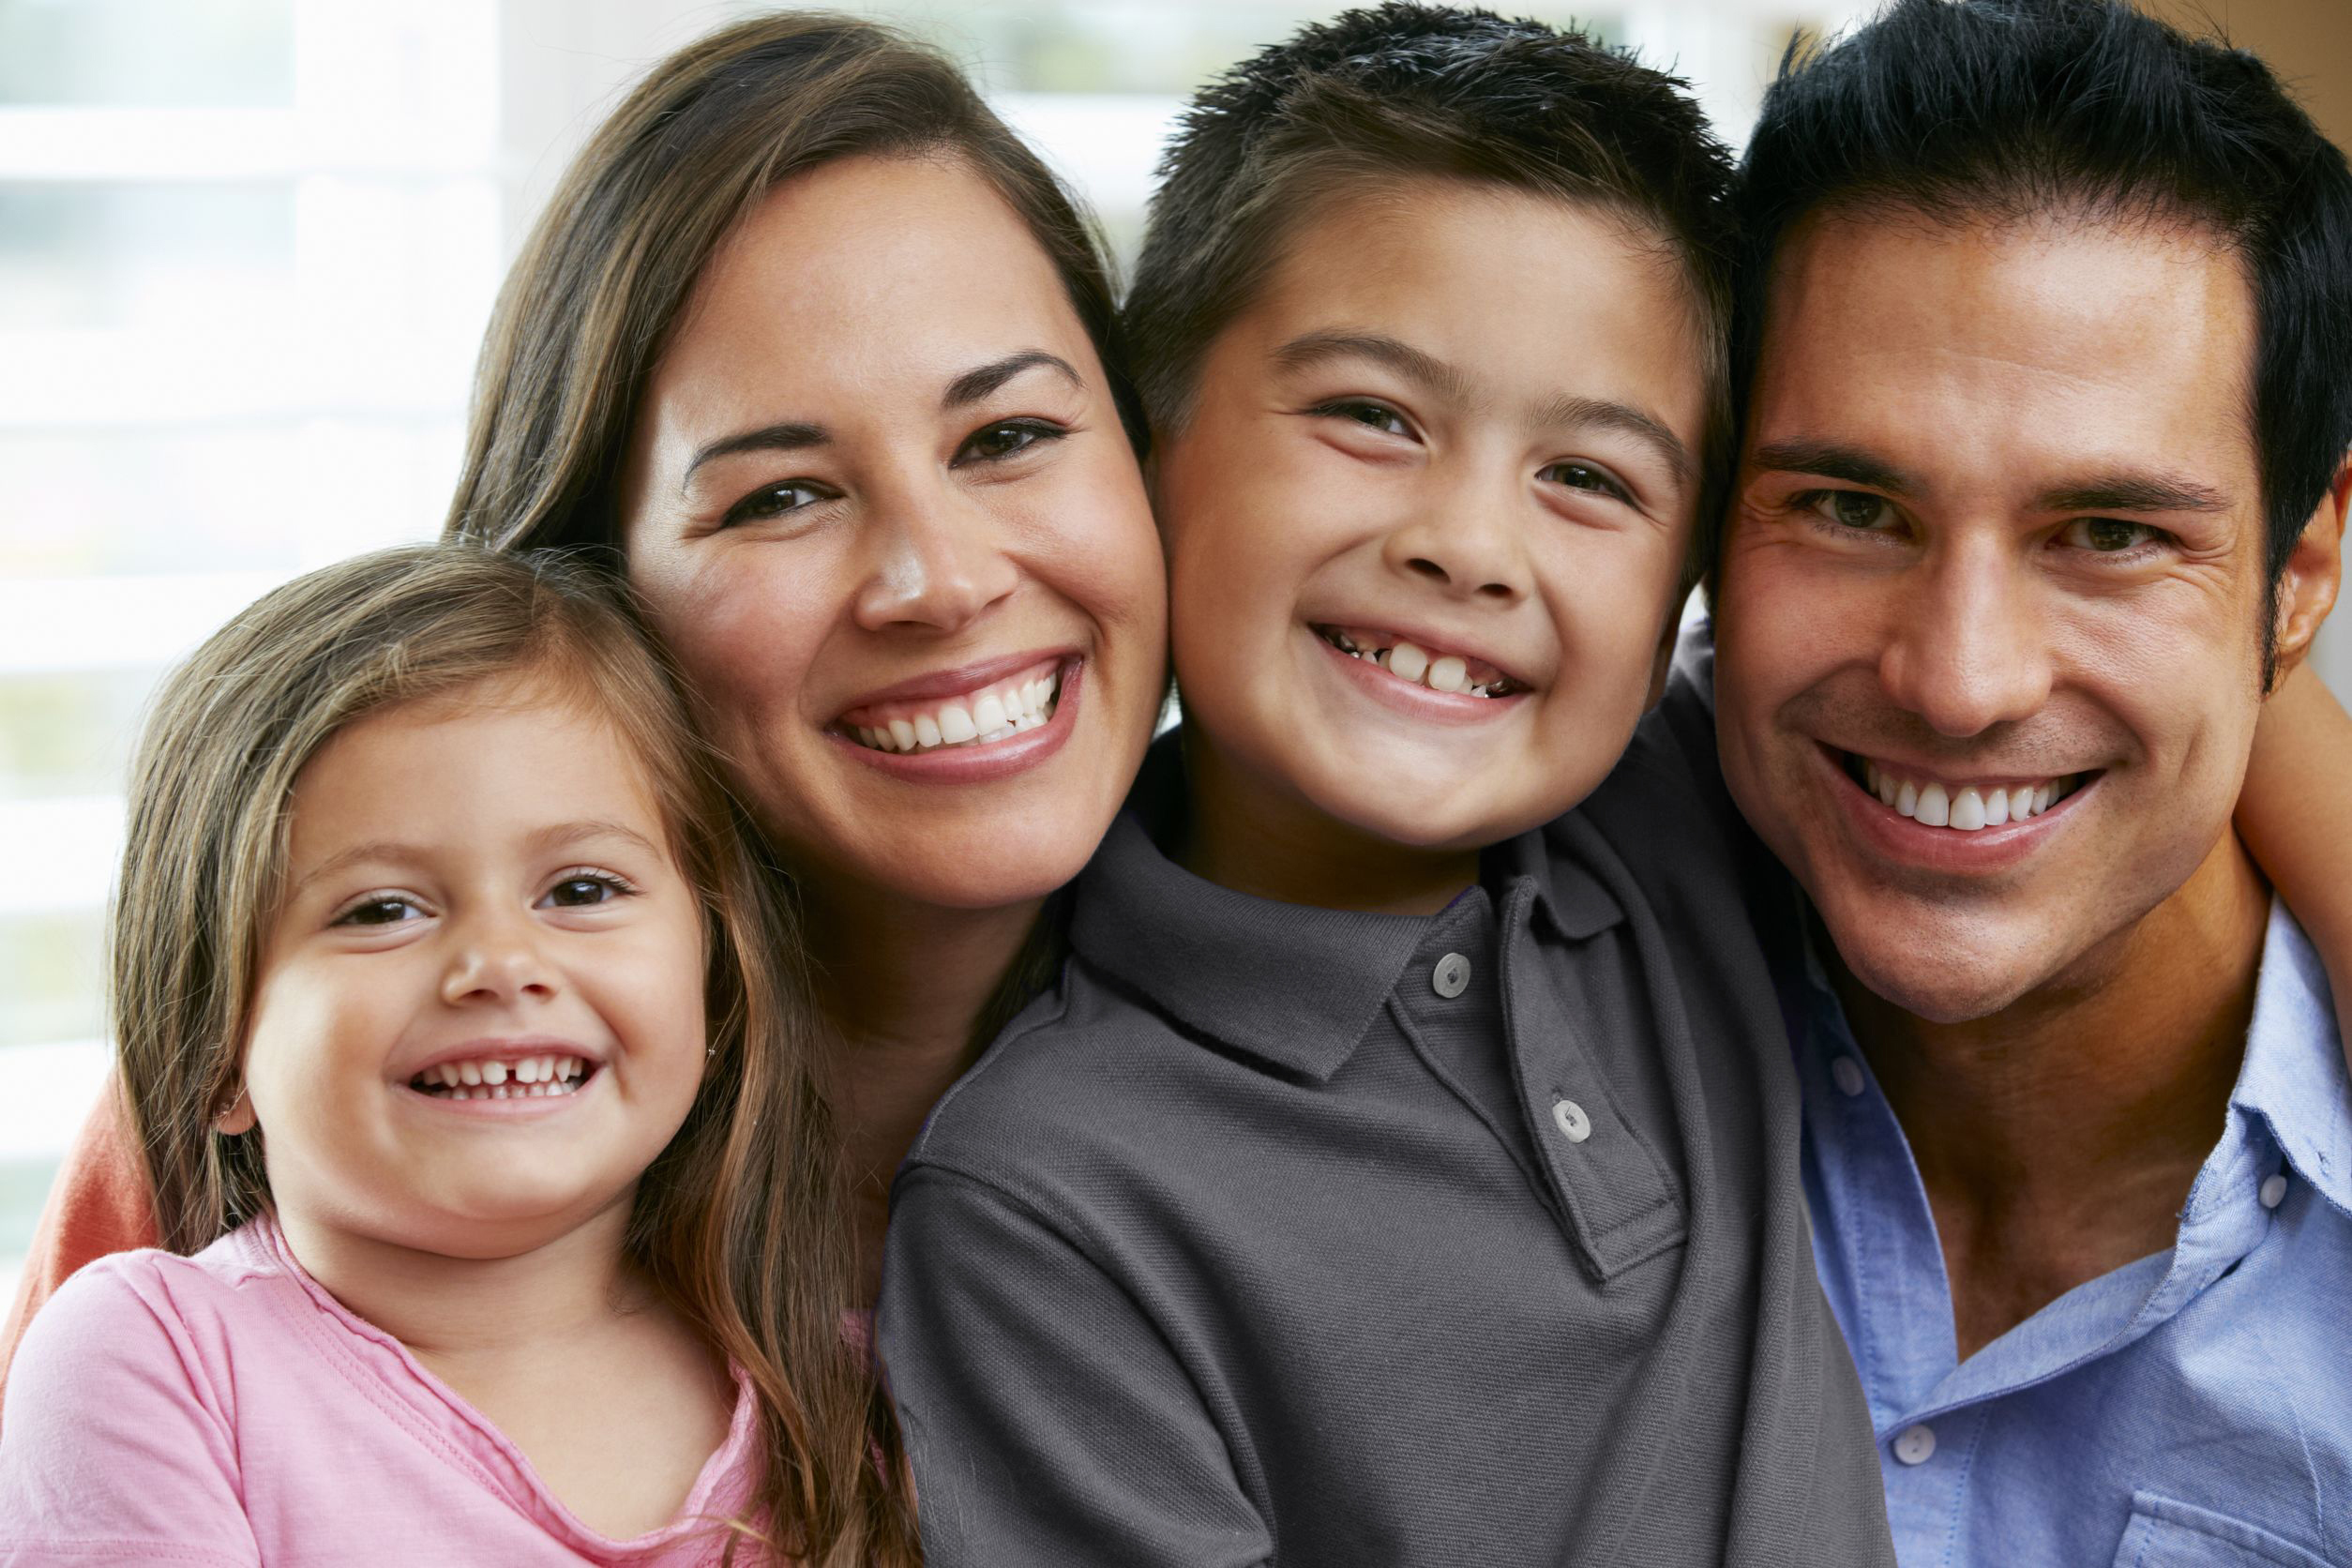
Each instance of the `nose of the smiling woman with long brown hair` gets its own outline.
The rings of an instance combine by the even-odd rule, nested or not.
[[[873,494],[873,548],[856,590],[856,623],[870,632],[920,625],[953,632],[1011,595],[1021,569],[985,508],[943,475]]]

